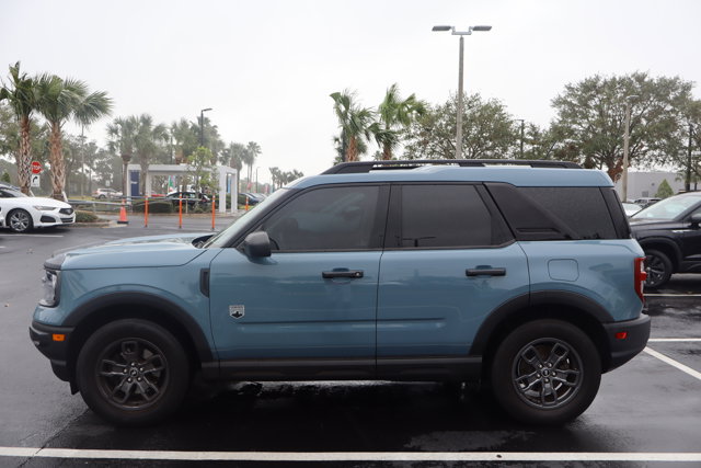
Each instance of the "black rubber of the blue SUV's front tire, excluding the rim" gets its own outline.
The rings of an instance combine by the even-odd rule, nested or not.
[[[97,381],[97,359],[105,349],[126,339],[142,339],[158,346],[166,361],[165,393],[145,409],[126,410],[103,396]],[[159,422],[175,412],[189,386],[189,364],[180,342],[164,328],[139,319],[107,323],[96,330],[82,346],[76,366],[80,393],[91,410],[117,425],[146,425]]]

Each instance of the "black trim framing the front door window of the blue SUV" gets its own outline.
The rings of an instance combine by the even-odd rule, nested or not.
[[[284,255],[286,253],[324,253],[324,252],[381,252],[383,250],[384,239],[387,236],[387,222],[388,222],[388,212],[389,212],[389,198],[390,198],[390,184],[386,182],[359,182],[359,183],[346,183],[346,184],[322,184],[322,185],[313,185],[310,187],[301,189],[288,196],[287,198],[280,201],[280,203],[272,208],[269,212],[265,213],[261,216],[261,218],[253,225],[251,229],[245,231],[235,242],[237,249],[239,251],[243,251],[243,240],[245,237],[257,230],[261,230],[261,227],[278,210],[283,209],[287,204],[291,203],[294,199],[297,199],[299,196],[306,193],[310,193],[315,190],[321,189],[338,189],[338,187],[365,187],[365,186],[376,186],[379,189],[378,193],[378,204],[377,204],[377,213],[375,214],[375,222],[372,227],[372,238],[378,238],[377,247],[372,247],[369,249],[299,249],[299,250],[274,250],[273,254],[275,255]]]

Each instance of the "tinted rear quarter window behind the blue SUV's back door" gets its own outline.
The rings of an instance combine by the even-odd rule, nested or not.
[[[613,220],[599,187],[521,187],[582,239],[616,239]]]

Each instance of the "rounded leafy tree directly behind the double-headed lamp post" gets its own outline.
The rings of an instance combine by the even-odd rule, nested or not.
[[[456,112],[451,96],[430,107],[406,130],[404,157],[409,159],[453,159],[456,157]],[[464,101],[462,155],[466,159],[505,158],[517,139],[514,121],[497,100],[483,101],[472,94]]]

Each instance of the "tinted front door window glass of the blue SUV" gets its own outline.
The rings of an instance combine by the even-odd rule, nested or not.
[[[378,198],[378,186],[312,190],[274,213],[262,230],[279,251],[379,248]]]

